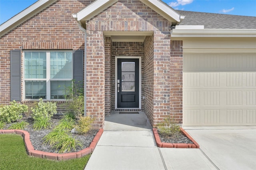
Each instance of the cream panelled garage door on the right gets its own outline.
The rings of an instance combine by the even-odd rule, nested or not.
[[[184,54],[184,126],[256,125],[256,54]]]

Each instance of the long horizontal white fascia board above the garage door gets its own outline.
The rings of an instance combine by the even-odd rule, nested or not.
[[[173,29],[172,37],[256,37],[256,29]]]

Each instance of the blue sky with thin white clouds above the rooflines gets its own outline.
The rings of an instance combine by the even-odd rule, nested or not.
[[[37,0],[0,0],[0,24]],[[256,16],[256,0],[163,0],[176,10]]]

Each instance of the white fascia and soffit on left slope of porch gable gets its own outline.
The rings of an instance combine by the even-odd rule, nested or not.
[[[78,12],[74,18],[77,18],[78,21],[90,20],[116,2],[117,0],[96,0]]]

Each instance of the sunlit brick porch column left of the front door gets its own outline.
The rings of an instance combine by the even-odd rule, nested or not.
[[[101,31],[87,34],[86,113],[95,119],[95,127],[104,127],[105,115],[105,50]]]

